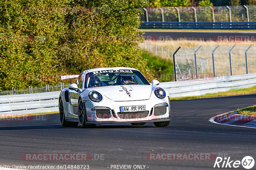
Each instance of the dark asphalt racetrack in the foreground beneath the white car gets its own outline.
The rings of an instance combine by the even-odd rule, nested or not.
[[[245,156],[255,159],[256,129],[208,121],[216,114],[255,103],[255,94],[174,101],[171,102],[171,123],[164,128],[156,128],[153,123],[143,126],[97,125],[94,129],[67,128],[60,125],[58,114],[44,115],[44,120],[0,121],[0,165],[83,164],[92,170],[111,169],[111,165],[145,165],[148,170],[216,169],[213,168],[215,158],[148,160],[146,155],[213,153],[216,157],[225,155],[231,160],[241,161]],[[89,153],[94,160],[28,161],[22,158],[26,153]],[[100,154],[103,155],[101,160],[95,160]],[[240,165],[236,169],[244,168]]]

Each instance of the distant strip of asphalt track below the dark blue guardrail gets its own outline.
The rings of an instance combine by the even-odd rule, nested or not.
[[[202,39],[202,40],[218,40],[218,36],[221,36],[222,39],[227,36],[241,36],[242,39],[244,36],[255,36],[255,32],[210,32],[210,31],[143,31],[146,38],[152,37],[156,40],[169,40],[171,39]]]

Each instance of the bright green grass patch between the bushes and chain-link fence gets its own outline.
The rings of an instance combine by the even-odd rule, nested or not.
[[[173,80],[173,66],[171,60],[161,58],[147,51],[143,51],[142,57],[148,60],[148,68],[154,71],[152,78],[160,82]]]

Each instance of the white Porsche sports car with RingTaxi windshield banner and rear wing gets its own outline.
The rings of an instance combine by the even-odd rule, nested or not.
[[[97,124],[131,123],[168,126],[171,107],[168,92],[152,80],[152,85],[135,68],[109,67],[85,70],[59,96],[62,126],[95,127]]]

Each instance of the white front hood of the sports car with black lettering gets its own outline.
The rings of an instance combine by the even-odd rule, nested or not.
[[[90,88],[113,101],[147,100],[151,96],[151,85],[120,85]]]

